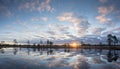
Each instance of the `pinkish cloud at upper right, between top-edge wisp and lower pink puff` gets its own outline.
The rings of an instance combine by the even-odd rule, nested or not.
[[[113,11],[114,11],[114,6],[109,6],[109,7],[100,6],[100,7],[98,7],[98,12],[101,14],[104,14],[104,15],[107,15]]]

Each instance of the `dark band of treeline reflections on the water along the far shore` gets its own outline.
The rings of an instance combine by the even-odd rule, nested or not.
[[[1,48],[0,53],[8,52],[9,48]],[[40,55],[53,55],[55,52],[66,52],[71,53],[75,52],[77,54],[96,54],[96,55],[105,55],[108,60],[117,61],[119,58],[119,51],[118,50],[102,50],[102,49],[71,49],[71,48],[64,48],[64,49],[51,49],[51,48],[11,48],[14,55],[20,54],[19,52],[27,53],[27,55],[31,55],[33,53],[39,53]],[[12,52],[9,52],[12,53]],[[7,54],[7,53],[6,53]],[[110,61],[110,62],[111,62]]]

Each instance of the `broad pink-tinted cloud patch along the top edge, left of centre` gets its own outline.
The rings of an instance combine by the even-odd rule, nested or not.
[[[51,7],[50,2],[51,0],[44,0],[43,2],[40,2],[39,0],[24,2],[18,7],[18,9],[38,11],[38,12],[41,12],[41,11],[52,12],[54,11],[54,8]]]

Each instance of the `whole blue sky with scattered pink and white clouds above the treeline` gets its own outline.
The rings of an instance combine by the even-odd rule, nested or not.
[[[120,0],[0,0],[0,41],[105,43],[119,22]]]

